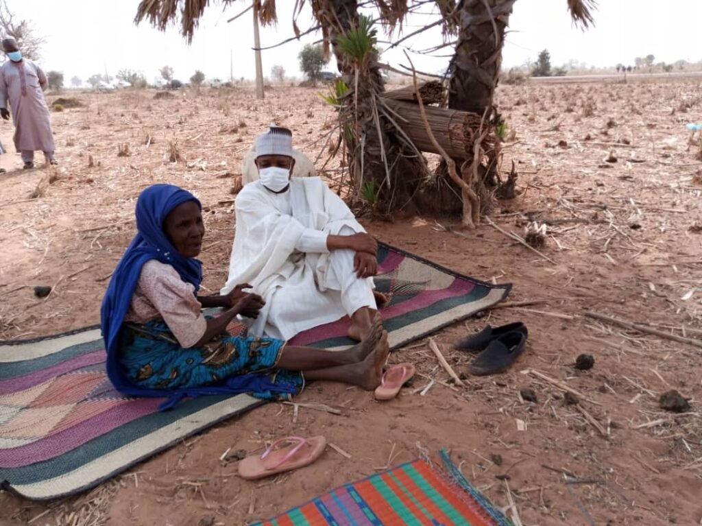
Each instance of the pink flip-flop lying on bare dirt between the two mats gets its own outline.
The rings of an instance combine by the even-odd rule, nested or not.
[[[284,442],[289,442],[288,447],[276,449]],[[239,462],[239,476],[246,480],[270,477],[302,468],[319,459],[326,447],[326,438],[322,436],[312,438],[287,437],[273,442],[262,455],[247,456]]]

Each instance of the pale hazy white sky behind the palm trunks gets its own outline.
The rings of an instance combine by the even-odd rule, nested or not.
[[[232,23],[226,22],[249,2],[237,2],[223,11],[216,0],[211,1],[190,46],[174,27],[165,33],[152,29],[148,23],[136,27],[133,18],[138,3],[138,0],[8,0],[18,17],[33,20],[37,32],[46,37],[40,64],[45,70],[62,71],[66,84],[74,75],[87,79],[91,74],[104,73],[105,68],[111,75],[121,68],[131,68],[153,81],[163,65],[171,65],[175,77],[181,80],[190,78],[196,69],[202,70],[208,79],[229,79],[230,50],[234,55],[234,78],[254,77],[251,12]],[[263,46],[293,36],[293,1],[279,0],[277,4],[279,24],[262,29]],[[510,17],[503,65],[510,67],[529,58],[534,60],[543,48],[549,49],[553,65],[571,59],[597,66],[628,65],[633,64],[635,56],[649,53],[656,56],[656,62],[702,59],[701,0],[673,0],[668,4],[660,0],[600,0],[595,12],[596,25],[585,32],[571,24],[566,5],[566,0],[517,1]],[[428,20],[435,18],[430,15],[410,18],[405,33]],[[303,11],[298,19],[300,29],[312,23],[310,11]],[[300,77],[298,52],[303,44],[319,38],[319,34],[309,35],[300,42],[264,51],[264,74],[270,74],[272,65],[279,64],[286,74]],[[405,44],[421,49],[440,42],[441,35],[435,31]],[[449,47],[437,54],[450,52]],[[429,72],[439,72],[449,61],[446,57],[411,56],[418,70]],[[383,60],[393,65],[407,63],[398,48],[385,53]]]

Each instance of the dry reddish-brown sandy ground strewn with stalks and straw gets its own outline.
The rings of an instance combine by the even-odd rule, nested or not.
[[[527,352],[507,374],[447,387],[448,375],[423,341],[390,358],[409,360],[423,374],[397,400],[380,404],[355,388],[317,384],[299,400],[336,407],[340,416],[301,408],[294,419],[292,407],[269,404],[88,494],[48,505],[0,494],[0,524],[41,515],[32,524],[241,525],[442,447],[498,506],[508,505],[511,491],[508,513],[524,525],[698,524],[702,350],[583,313],[702,338],[702,290],[694,291],[702,270],[702,163],[684,128],[702,120],[701,93],[691,81],[500,88],[516,132],[504,167],[517,162],[523,193],[491,217],[520,235],[527,214],[563,220],[548,225],[541,251],[551,261],[486,223],[457,235],[430,220],[362,220],[380,239],[458,272],[514,283],[509,301],[543,301],[493,310],[435,336],[463,372],[471,357],[451,350],[454,338],[486,322],[523,320]],[[301,88],[275,88],[263,102],[245,89],[166,100],[153,92],[76,97],[86,107],[53,114],[58,170],[26,172],[15,154],[1,159],[8,173],[0,176],[0,338],[98,322],[107,277],[134,233],[135,199],[155,182],[189,188],[206,206],[204,285],[218,289],[232,240],[230,189],[253,136],[275,120],[314,158],[333,121],[316,92]],[[11,126],[0,130],[11,143]],[[128,155],[118,157],[125,144]],[[603,162],[611,150],[618,162]],[[41,197],[26,200],[43,178]],[[56,289],[38,301],[34,284]],[[580,353],[595,357],[593,369],[574,369]],[[585,411],[525,369],[581,393]],[[420,395],[430,379],[444,383]],[[538,401],[524,402],[524,388]],[[691,410],[663,411],[658,397],[668,389],[691,398]],[[272,438],[316,434],[350,458],[328,449],[310,468],[256,483],[234,475],[235,461],[220,461],[229,448],[253,452]],[[576,483],[567,484],[564,473]]]

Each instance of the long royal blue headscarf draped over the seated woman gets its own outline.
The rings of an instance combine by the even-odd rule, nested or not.
[[[143,265],[152,259],[171,265],[184,282],[192,283],[196,292],[199,290],[202,281],[201,261],[181,256],[163,228],[168,213],[188,201],[195,202],[202,209],[198,199],[187,190],[173,185],[153,185],[141,192],[136,202],[137,235],[114,269],[100,308],[100,326],[107,350],[107,376],[114,387],[126,395],[168,396],[161,409],[173,407],[186,395],[234,394],[265,389],[292,392],[291,389],[274,385],[262,374],[234,376],[218,386],[168,391],[135,386],[124,375],[118,356],[119,334]]]

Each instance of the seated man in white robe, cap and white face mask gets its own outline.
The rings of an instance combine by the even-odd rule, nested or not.
[[[250,284],[265,300],[249,332],[289,340],[351,318],[362,339],[376,315],[373,275],[378,244],[319,177],[291,178],[292,133],[271,127],[256,138],[259,179],[234,202],[236,234],[227,294]]]

